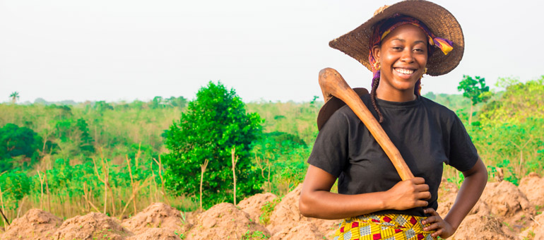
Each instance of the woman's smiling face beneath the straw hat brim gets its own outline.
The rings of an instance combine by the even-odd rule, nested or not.
[[[372,51],[381,66],[378,88],[389,93],[413,94],[415,83],[427,65],[427,41],[420,28],[405,24],[391,31],[381,46],[375,46]]]

